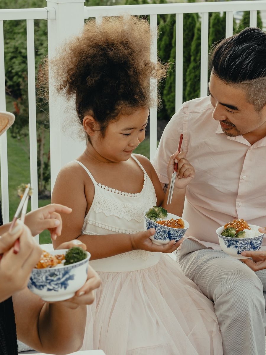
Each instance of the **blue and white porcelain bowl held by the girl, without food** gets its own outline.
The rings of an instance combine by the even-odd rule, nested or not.
[[[184,220],[184,218],[182,218],[182,219],[184,221],[185,228],[172,228],[172,227],[167,227],[165,225],[161,225],[159,223],[152,221],[151,219],[149,219],[146,216],[147,212],[148,211],[146,211],[144,213],[144,217],[146,220],[146,228],[147,229],[155,228],[156,233],[154,235],[150,236],[150,239],[155,244],[158,244],[158,245],[167,244],[173,239],[177,242],[179,239],[183,238],[185,232],[189,228],[189,224],[186,220]],[[168,220],[171,218],[178,219],[181,217],[178,217],[177,215],[172,214],[172,213],[168,213],[166,218],[161,218],[160,220]]]

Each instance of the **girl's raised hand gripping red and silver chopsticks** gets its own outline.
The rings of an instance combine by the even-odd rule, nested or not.
[[[194,178],[195,170],[189,161],[185,159],[185,152],[176,152],[171,155],[167,164],[167,176],[169,181],[171,181],[175,163],[177,163],[177,172],[174,187],[184,189]]]

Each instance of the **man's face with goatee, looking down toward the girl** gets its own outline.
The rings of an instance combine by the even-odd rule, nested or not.
[[[209,82],[212,117],[220,121],[223,132],[230,137],[256,134],[256,130],[266,129],[266,106],[256,111],[254,105],[246,101],[246,92],[234,84],[226,84],[211,73]]]

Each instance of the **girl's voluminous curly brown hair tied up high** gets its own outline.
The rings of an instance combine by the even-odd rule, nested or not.
[[[87,21],[49,65],[58,92],[75,96],[79,121],[91,114],[102,136],[119,114],[159,103],[159,94],[157,102],[151,97],[150,79],[167,72],[167,65],[150,60],[148,21],[134,16]],[[47,83],[48,61],[40,72],[40,82]]]

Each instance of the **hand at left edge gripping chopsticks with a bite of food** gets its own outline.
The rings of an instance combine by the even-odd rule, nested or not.
[[[14,253],[14,244],[20,239],[20,250]],[[12,231],[0,237],[0,302],[28,284],[31,271],[41,256],[41,249],[32,237],[31,231],[20,221]]]

